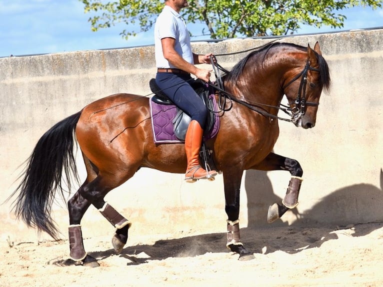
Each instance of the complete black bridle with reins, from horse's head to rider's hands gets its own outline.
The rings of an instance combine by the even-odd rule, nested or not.
[[[277,119],[280,119],[280,120],[284,120],[284,121],[289,121],[289,122],[292,122],[294,124],[296,124],[296,122],[298,122],[298,120],[300,119],[300,117],[304,114],[305,112],[305,107],[307,105],[311,105],[311,106],[318,106],[319,103],[317,102],[312,102],[312,101],[307,101],[306,100],[306,83],[307,83],[307,72],[308,70],[312,70],[312,71],[317,71],[317,72],[320,72],[319,69],[317,68],[314,68],[314,67],[311,67],[310,66],[310,61],[307,59],[306,61],[306,64],[304,65],[303,67],[303,70],[301,72],[299,72],[297,75],[295,75],[284,87],[283,87],[283,90],[289,86],[291,83],[293,83],[295,80],[297,80],[299,77],[301,77],[300,79],[300,83],[299,83],[299,89],[298,89],[298,93],[296,95],[296,99],[293,100],[293,101],[289,101],[288,104],[292,104],[294,103],[294,107],[293,108],[290,108],[289,106],[286,106],[284,104],[280,104],[279,106],[274,106],[274,105],[268,105],[268,104],[264,104],[264,103],[259,103],[259,102],[253,102],[253,103],[248,103],[244,100],[241,100],[241,99],[238,99],[236,98],[233,94],[227,92],[226,90],[224,90],[224,85],[223,85],[223,81],[222,81],[222,77],[221,77],[221,74],[220,74],[220,71],[223,71],[225,73],[228,73],[229,71],[224,69],[222,66],[220,66],[216,59],[215,59],[215,56],[212,55],[210,56],[210,61],[212,63],[212,67],[213,67],[213,71],[215,73],[215,78],[216,78],[216,84],[212,84],[209,82],[209,85],[213,86],[216,90],[219,91],[219,100],[218,100],[218,106],[220,108],[220,111],[226,111],[226,110],[229,110],[231,108],[231,105],[229,105],[228,108],[226,107],[222,107],[222,96],[224,97],[223,99],[223,103],[225,105],[225,102],[226,102],[226,98],[229,98],[231,101],[235,101],[239,104],[242,104],[264,116],[268,116],[270,118],[277,118]],[[283,118],[283,117],[279,117],[277,115],[274,115],[274,114],[271,114],[269,112],[267,112],[264,108],[262,108],[262,106],[267,106],[267,107],[273,107],[273,108],[276,108],[276,109],[280,109],[282,110],[283,112],[285,112],[286,114],[288,114],[290,116],[290,119],[288,118]]]

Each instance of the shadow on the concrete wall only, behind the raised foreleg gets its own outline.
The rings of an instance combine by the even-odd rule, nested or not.
[[[322,223],[345,226],[357,223],[383,222],[382,189],[383,170],[380,169],[380,188],[366,183],[346,186],[334,190],[303,213],[299,214],[296,208],[287,212],[293,212],[293,215],[299,217],[292,223],[293,225]],[[274,194],[266,171],[247,170],[245,190],[248,227],[287,225],[287,222],[280,219],[271,224],[266,222],[268,206],[274,202],[280,203],[282,201],[281,197]]]

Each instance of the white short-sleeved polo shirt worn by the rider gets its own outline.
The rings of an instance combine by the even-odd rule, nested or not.
[[[185,21],[179,13],[165,5],[158,15],[154,25],[154,51],[157,68],[174,68],[164,57],[161,39],[171,37],[175,39],[174,49],[187,62],[193,64],[193,53],[190,46],[190,35]]]

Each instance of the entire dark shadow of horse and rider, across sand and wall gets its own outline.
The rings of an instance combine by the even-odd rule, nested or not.
[[[251,183],[250,183],[251,182]],[[294,214],[301,218],[304,224],[295,221],[287,226],[281,220],[277,224],[259,224],[260,216],[267,214],[267,204],[281,202],[274,194],[266,172],[251,171],[246,176],[246,192],[248,201],[248,227],[241,228],[241,238],[247,250],[254,253],[270,253],[281,250],[287,253],[297,253],[303,249],[320,247],[328,240],[337,239],[334,230],[352,228],[351,236],[363,236],[383,226],[383,214],[377,211],[383,208],[383,171],[380,170],[380,188],[371,184],[354,184],[337,189],[325,196],[320,202],[302,214],[295,210]],[[267,204],[253,204],[256,198],[263,198]],[[375,211],[374,211],[375,210]],[[374,211],[374,212],[372,212]],[[377,214],[380,214],[378,216]],[[326,223],[320,218],[348,218],[346,227],[339,227],[336,220]],[[263,219],[264,220],[264,219]],[[309,223],[307,223],[309,222]],[[339,222],[344,222],[339,220]],[[375,222],[368,224],[358,224]],[[344,225],[343,225],[344,226]],[[137,244],[125,247],[119,256],[127,259],[127,265],[140,264],[148,260],[162,260],[168,257],[193,257],[207,252],[229,252],[226,246],[225,233],[209,233],[186,236],[175,239],[157,240],[154,244]],[[113,249],[89,252],[97,260],[115,255]],[[57,265],[71,265],[71,259],[55,260]]]

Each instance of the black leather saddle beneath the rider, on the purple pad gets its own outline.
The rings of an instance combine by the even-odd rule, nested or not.
[[[207,85],[202,80],[195,80],[190,83],[191,87],[195,90],[195,92],[199,95],[199,97],[203,100],[203,103],[206,105],[207,110],[207,119],[205,126],[203,126],[203,130],[208,132],[215,123],[215,111],[214,111],[214,103],[213,99],[209,98],[210,90]],[[158,104],[167,104],[167,105],[175,105],[165,93],[161,91],[161,89],[155,83],[155,79],[152,78],[149,81],[149,86],[154,95],[151,97],[151,100]],[[180,140],[185,140],[185,135],[187,131],[187,127],[191,118],[188,114],[183,112],[180,108],[177,107],[177,113],[172,120],[174,125],[174,134]]]

